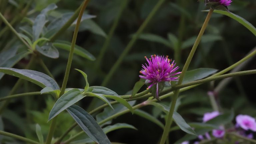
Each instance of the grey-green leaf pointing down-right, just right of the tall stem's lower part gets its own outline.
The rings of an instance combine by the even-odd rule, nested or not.
[[[180,127],[181,130],[188,134],[196,135],[196,132],[185,122],[179,113],[173,112],[173,120]]]

